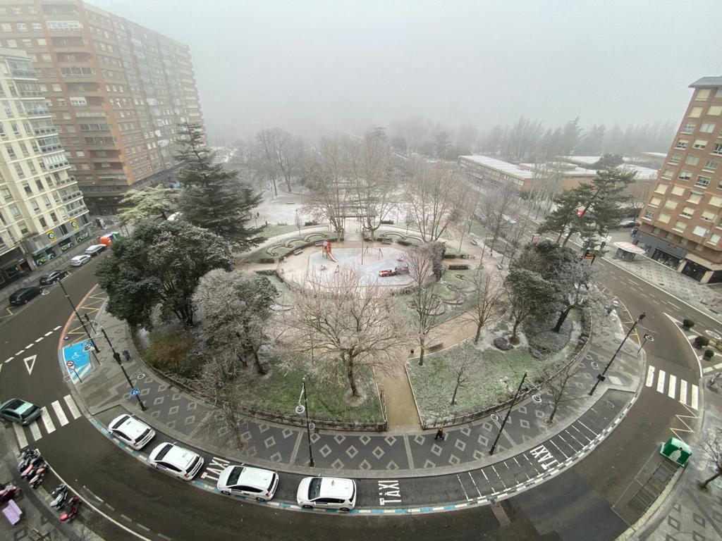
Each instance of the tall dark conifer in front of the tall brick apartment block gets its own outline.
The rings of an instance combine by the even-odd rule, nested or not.
[[[183,123],[180,128],[181,149],[175,159],[181,165],[178,180],[183,186],[183,218],[240,250],[258,245],[261,239],[245,224],[251,219],[251,210],[261,203],[261,194],[240,181],[238,171],[214,162],[214,153],[205,146],[199,124]]]

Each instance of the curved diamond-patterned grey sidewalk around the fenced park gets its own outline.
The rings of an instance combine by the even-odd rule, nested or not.
[[[105,309],[100,309],[95,316],[110,335],[116,351],[128,349],[131,352],[131,361],[123,362],[123,367],[134,386],[141,390],[140,396],[147,405],[147,411],[142,412],[136,400],[129,396],[129,384],[113,361],[110,348],[100,338],[100,366],[96,366],[83,378],[82,384],[74,388],[97,421],[107,424],[121,413],[122,408],[168,436],[218,457],[282,471],[311,471],[306,467],[307,455],[303,447],[305,428],[245,418],[242,434],[245,447],[239,452],[232,444],[230,434],[219,433],[217,424],[213,422],[214,411],[209,405],[156,377],[144,366],[123,322],[113,318]],[[417,476],[466,471],[531,449],[565,430],[581,416],[598,416],[596,424],[607,426],[609,419],[596,413],[594,405],[603,401],[614,405],[613,413],[625,410],[625,404],[635,396],[643,373],[643,362],[636,355],[636,346],[627,343],[612,366],[607,382],[593,397],[588,397],[586,392],[591,388],[600,364],[603,359],[609,358],[623,337],[622,326],[614,315],[595,320],[594,327],[596,332],[588,351],[580,356],[583,371],[570,382],[570,389],[575,390],[575,394],[578,392],[580,398],[560,405],[552,426],[544,422],[549,415],[546,395],[543,395],[541,404],[529,400],[517,405],[493,457],[486,451],[497,434],[500,421],[488,418],[448,428],[446,439],[441,444],[434,441],[435,431],[420,429],[391,430],[380,434],[321,430],[312,436],[316,455],[313,472],[347,472],[357,478],[375,478],[386,477],[390,472],[394,476]],[[608,407],[597,409],[606,410],[604,415],[609,415]]]

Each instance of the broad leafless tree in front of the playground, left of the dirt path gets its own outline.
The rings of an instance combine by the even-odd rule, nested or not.
[[[393,300],[376,285],[362,285],[355,271],[309,276],[292,302],[287,347],[312,358],[316,377],[345,381],[352,397],[360,397],[358,371],[386,369],[395,348],[408,341]]]

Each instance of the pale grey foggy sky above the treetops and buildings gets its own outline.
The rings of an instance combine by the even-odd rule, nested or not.
[[[210,140],[422,115],[674,120],[722,75],[718,0],[90,0],[191,47]]]

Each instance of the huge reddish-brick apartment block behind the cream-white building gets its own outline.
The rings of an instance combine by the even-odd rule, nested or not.
[[[0,0],[0,47],[30,55],[93,214],[172,182],[177,124],[203,121],[187,45],[79,0]]]

